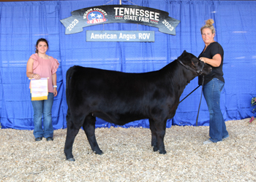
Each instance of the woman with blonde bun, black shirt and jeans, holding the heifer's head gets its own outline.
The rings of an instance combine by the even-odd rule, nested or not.
[[[217,41],[214,41],[215,29],[212,25],[213,23],[214,20],[209,19],[206,21],[206,25],[200,29],[206,46],[198,58],[212,68],[211,73],[205,76],[203,84],[203,95],[210,113],[210,138],[203,144],[217,143],[229,137],[219,103],[220,93],[225,84],[222,72],[224,51],[222,46]],[[202,85],[202,82],[203,76],[199,76],[198,84]]]

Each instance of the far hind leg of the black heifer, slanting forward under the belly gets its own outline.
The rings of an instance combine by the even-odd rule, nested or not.
[[[86,116],[85,122],[83,122],[83,130],[86,132],[87,139],[90,143],[91,150],[94,151],[95,154],[103,154],[102,150],[99,149],[98,143],[95,137],[95,122],[96,118],[94,116],[88,115]]]

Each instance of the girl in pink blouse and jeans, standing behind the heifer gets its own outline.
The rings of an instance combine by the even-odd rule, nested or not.
[[[56,71],[59,68],[59,62],[55,58],[46,55],[48,50],[48,41],[46,39],[37,40],[37,50],[28,60],[26,66],[26,76],[34,79],[48,79],[48,100],[31,100],[34,108],[34,137],[36,141],[41,141],[45,137],[47,141],[53,141],[53,124],[51,118],[51,109],[53,106],[53,97],[57,92]],[[31,84],[29,85],[31,88]],[[42,128],[42,115],[44,118]]]

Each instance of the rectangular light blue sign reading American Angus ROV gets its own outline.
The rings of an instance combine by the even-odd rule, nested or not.
[[[154,31],[86,31],[86,41],[154,41]]]

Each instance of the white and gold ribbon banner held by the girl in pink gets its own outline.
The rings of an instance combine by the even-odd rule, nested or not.
[[[31,100],[48,99],[48,78],[31,79]]]

